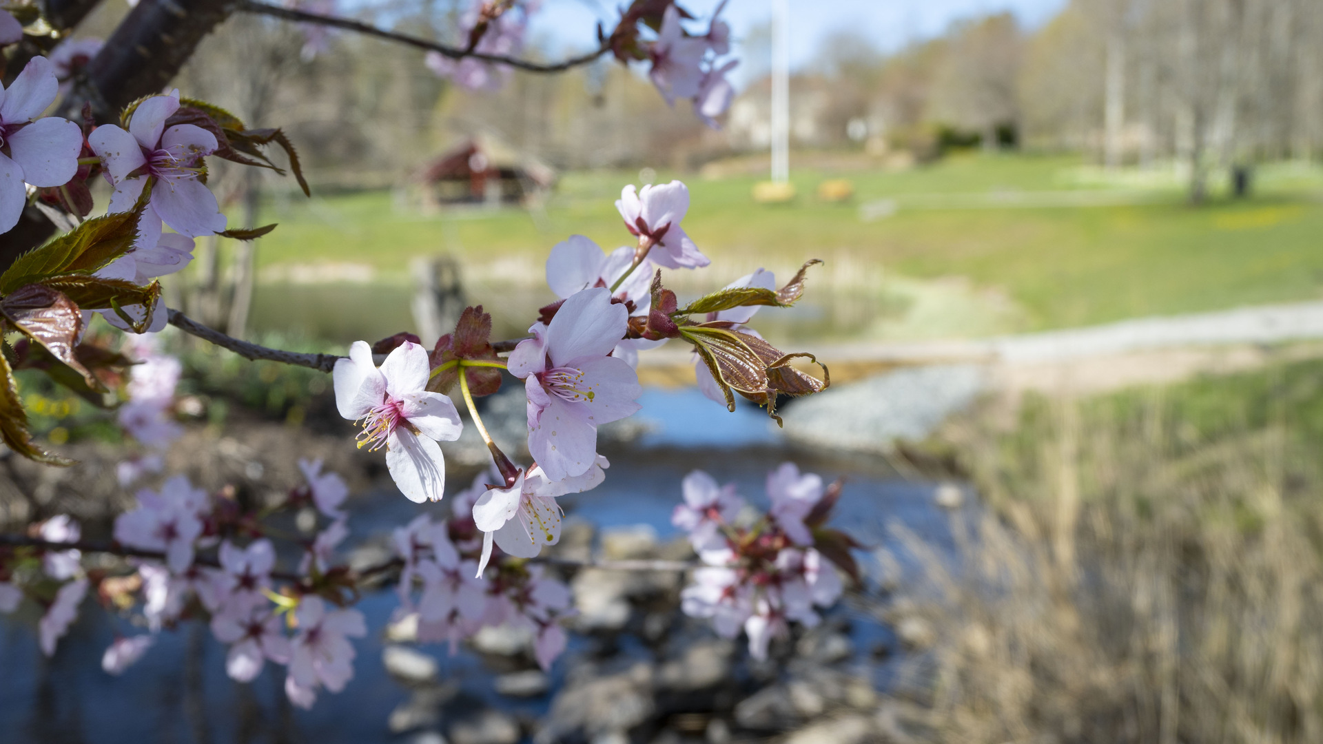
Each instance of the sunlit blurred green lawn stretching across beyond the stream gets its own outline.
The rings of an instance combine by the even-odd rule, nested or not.
[[[798,171],[799,197],[783,205],[754,203],[755,177],[680,177],[692,193],[685,230],[724,279],[759,265],[789,273],[810,257],[843,262],[847,273],[881,267],[898,281],[963,277],[1009,298],[1015,330],[1323,294],[1323,171],[1304,165],[1263,167],[1252,199],[1201,208],[1185,204],[1174,172],[1106,177],[1060,156],[968,155],[894,173]],[[816,199],[830,177],[849,179],[855,199]],[[527,258],[527,279],[568,234],[605,248],[628,242],[613,200],[631,181],[636,175],[568,173],[545,216],[423,216],[398,209],[388,192],[279,200],[265,216],[280,226],[263,238],[261,265],[364,263],[398,281],[410,257],[451,252],[475,267]],[[999,207],[1062,191],[1134,203]],[[896,213],[864,221],[860,204],[880,199],[894,200]]]

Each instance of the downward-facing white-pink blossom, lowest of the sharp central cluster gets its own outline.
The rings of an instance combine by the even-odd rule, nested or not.
[[[561,507],[556,496],[590,491],[606,479],[605,469],[611,463],[602,455],[586,473],[562,481],[552,481],[540,466],[520,471],[515,483],[505,488],[488,488],[474,503],[474,523],[483,531],[483,555],[478,561],[478,576],[491,560],[492,543],[515,557],[533,557],[542,545],[554,545],[561,539]]]

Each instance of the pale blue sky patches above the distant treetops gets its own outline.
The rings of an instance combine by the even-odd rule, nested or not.
[[[552,49],[585,49],[595,42],[595,24],[610,30],[617,7],[628,0],[544,0],[534,16],[533,33]],[[1056,15],[1066,0],[790,0],[790,57],[795,68],[804,66],[822,40],[835,30],[857,29],[877,40],[882,49],[896,49],[906,41],[941,34],[951,21],[986,13],[1011,11],[1021,23],[1036,28]],[[717,0],[681,0],[699,17],[708,17]],[[769,0],[729,0],[724,16],[738,40],[771,17]],[[738,45],[736,54],[740,53]]]

